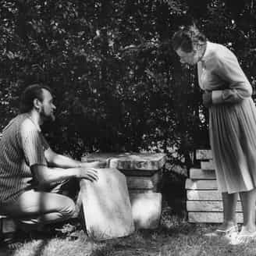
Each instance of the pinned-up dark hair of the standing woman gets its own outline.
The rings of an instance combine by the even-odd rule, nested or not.
[[[172,48],[174,51],[181,48],[183,52],[192,52],[195,45],[205,43],[206,37],[195,25],[181,27],[180,30],[176,31],[172,36]]]

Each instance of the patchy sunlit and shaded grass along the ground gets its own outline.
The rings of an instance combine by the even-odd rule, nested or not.
[[[173,215],[171,208],[162,212],[156,230],[140,230],[133,235],[104,242],[94,242],[82,230],[79,239],[65,238],[26,240],[14,251],[0,251],[0,256],[236,256],[256,255],[256,241],[246,246],[232,246],[220,238],[210,239],[204,233],[214,225],[187,223]]]

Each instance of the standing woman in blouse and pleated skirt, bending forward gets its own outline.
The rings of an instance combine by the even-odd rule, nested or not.
[[[224,222],[215,235],[232,236],[231,244],[256,238],[256,108],[252,88],[233,52],[206,39],[197,27],[184,27],[172,37],[180,62],[197,64],[203,104],[209,109],[209,137],[222,192]],[[244,226],[237,233],[238,193]]]

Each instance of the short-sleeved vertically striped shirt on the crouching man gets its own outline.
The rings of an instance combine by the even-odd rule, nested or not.
[[[47,165],[47,148],[40,127],[28,114],[16,116],[5,126],[0,140],[0,204],[15,201],[24,190],[33,188],[30,166]]]

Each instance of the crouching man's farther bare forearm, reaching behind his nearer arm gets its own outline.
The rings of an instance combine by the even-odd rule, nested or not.
[[[100,168],[102,167],[101,163],[96,161],[96,162],[80,162],[76,161],[73,158],[69,158],[65,155],[59,155],[56,154],[54,151],[52,151],[51,148],[48,148],[47,150],[44,151],[45,158],[48,162],[48,165],[52,167],[59,167],[62,169],[69,169],[69,168],[78,168],[78,167],[83,167],[83,168]]]

